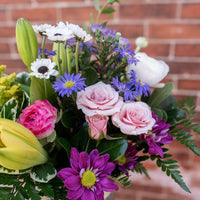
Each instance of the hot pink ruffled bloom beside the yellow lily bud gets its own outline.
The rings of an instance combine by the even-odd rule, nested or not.
[[[56,118],[55,107],[47,100],[37,100],[22,111],[18,123],[28,128],[38,139],[42,139],[54,131]]]

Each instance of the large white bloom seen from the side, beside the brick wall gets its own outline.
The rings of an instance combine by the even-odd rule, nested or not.
[[[147,56],[145,53],[137,53],[137,64],[132,64],[127,67],[127,77],[134,70],[136,77],[149,86],[163,87],[164,83],[159,83],[169,72],[169,66],[161,61]]]

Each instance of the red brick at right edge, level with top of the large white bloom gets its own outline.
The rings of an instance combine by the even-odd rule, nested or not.
[[[199,57],[200,44],[177,44],[175,56]]]

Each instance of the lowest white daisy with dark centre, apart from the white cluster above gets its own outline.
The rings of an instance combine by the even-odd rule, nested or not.
[[[37,59],[31,63],[30,76],[35,76],[37,78],[49,79],[50,76],[56,76],[58,71],[53,69],[56,66],[55,62],[51,62],[50,59]]]

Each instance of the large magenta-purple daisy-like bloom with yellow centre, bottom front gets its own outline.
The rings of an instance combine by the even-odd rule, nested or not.
[[[118,190],[117,184],[108,178],[115,164],[108,162],[109,154],[99,156],[97,149],[79,153],[71,149],[71,168],[63,168],[57,176],[64,181],[70,200],[103,200],[104,191]]]

